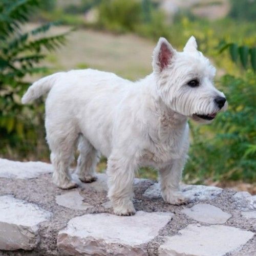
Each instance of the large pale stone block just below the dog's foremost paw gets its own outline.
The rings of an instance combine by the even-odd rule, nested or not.
[[[147,255],[146,244],[171,220],[170,212],[137,211],[134,216],[89,214],[71,219],[58,234],[64,255]]]

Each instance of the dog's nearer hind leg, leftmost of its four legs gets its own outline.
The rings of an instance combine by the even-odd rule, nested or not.
[[[63,189],[77,186],[71,179],[69,166],[74,159],[74,146],[78,134],[72,129],[66,128],[65,130],[63,127],[57,129],[57,125],[51,127],[46,125],[47,141],[51,150],[51,162],[54,167],[53,182]]]

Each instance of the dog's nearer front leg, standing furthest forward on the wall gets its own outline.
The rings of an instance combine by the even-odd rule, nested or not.
[[[136,166],[133,160],[110,157],[106,174],[108,175],[109,193],[116,215],[135,214],[133,206],[133,180]]]

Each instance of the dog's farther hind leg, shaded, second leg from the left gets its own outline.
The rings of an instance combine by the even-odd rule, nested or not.
[[[93,145],[84,137],[80,136],[78,143],[80,155],[77,160],[76,173],[82,182],[93,182],[97,180],[95,169],[97,165],[97,151]]]

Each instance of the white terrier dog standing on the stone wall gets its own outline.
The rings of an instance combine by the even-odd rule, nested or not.
[[[115,214],[133,215],[133,180],[140,166],[159,170],[165,202],[187,200],[179,191],[189,146],[187,120],[209,123],[227,105],[214,76],[215,68],[197,51],[193,36],[183,52],[160,38],[153,73],[140,81],[92,69],[60,72],[33,83],[22,102],[50,91],[45,126],[54,183],[64,189],[76,186],[69,165],[79,138],[80,180],[96,180],[100,152],[108,158],[108,196]]]

